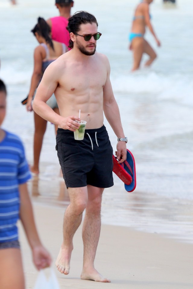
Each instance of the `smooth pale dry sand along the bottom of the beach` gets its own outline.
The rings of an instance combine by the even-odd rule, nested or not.
[[[102,225],[95,267],[111,279],[110,284],[80,279],[83,258],[81,227],[74,236],[74,250],[68,276],[55,268],[62,241],[64,209],[33,201],[35,219],[44,246],[50,251],[52,267],[61,288],[181,288],[193,287],[193,244],[165,238],[161,234],[138,232],[127,227]],[[23,229],[20,241],[26,288],[33,288],[37,274]],[[49,272],[46,270],[46,275]]]

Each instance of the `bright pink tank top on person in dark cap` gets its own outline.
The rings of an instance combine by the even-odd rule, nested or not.
[[[50,18],[52,21],[52,39],[64,43],[67,47],[69,45],[70,35],[66,26],[68,19],[62,16]]]

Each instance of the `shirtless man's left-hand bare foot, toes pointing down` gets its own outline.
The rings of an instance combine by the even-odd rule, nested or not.
[[[71,249],[68,249],[68,248],[64,248],[63,245],[60,248],[60,252],[55,261],[55,266],[57,267],[58,271],[62,274],[65,274],[65,275],[69,274],[72,250],[73,250],[73,247]]]

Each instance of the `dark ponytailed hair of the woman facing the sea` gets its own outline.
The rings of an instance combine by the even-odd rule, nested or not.
[[[34,36],[35,33],[37,32],[40,36],[42,36],[46,40],[46,43],[48,43],[54,50],[54,45],[50,37],[51,28],[43,18],[38,17],[38,22],[36,26],[31,30],[31,32],[33,33]]]

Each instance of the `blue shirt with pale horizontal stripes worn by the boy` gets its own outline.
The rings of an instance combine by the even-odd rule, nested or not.
[[[20,138],[5,131],[0,142],[0,243],[18,240],[19,185],[30,178]]]

